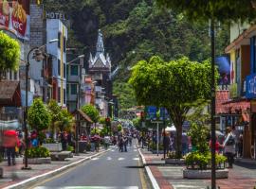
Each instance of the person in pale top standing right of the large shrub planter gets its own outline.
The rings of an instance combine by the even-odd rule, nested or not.
[[[235,156],[235,136],[231,132],[231,128],[226,129],[226,138],[224,141],[224,154],[228,159],[229,167],[233,168],[234,156]]]

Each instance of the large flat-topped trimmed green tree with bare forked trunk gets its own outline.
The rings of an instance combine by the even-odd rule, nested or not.
[[[216,76],[217,80],[217,76]],[[165,62],[159,57],[140,60],[129,82],[139,104],[164,107],[177,130],[176,154],[181,156],[182,124],[192,103],[210,98],[210,63],[188,58]]]

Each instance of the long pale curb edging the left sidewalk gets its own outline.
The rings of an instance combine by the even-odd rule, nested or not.
[[[44,173],[42,175],[38,175],[36,177],[33,177],[33,178],[30,178],[30,179],[27,179],[27,180],[23,180],[21,182],[18,182],[18,183],[15,183],[15,184],[12,184],[12,185],[9,185],[8,187],[5,187],[4,189],[20,189],[20,188],[27,188],[29,187],[29,185],[31,184],[35,184],[36,182],[39,182],[41,180],[46,180],[48,178],[51,178],[53,176],[56,176],[58,175],[59,173],[69,169],[69,168],[72,168],[72,167],[75,167],[77,166],[78,164],[80,163],[84,163],[85,161],[87,160],[90,160],[92,158],[95,158],[97,156],[100,156],[101,154],[107,152],[111,150],[111,148],[107,149],[107,150],[104,150],[104,151],[101,151],[97,154],[94,154],[92,156],[89,156],[89,157],[86,157],[86,158],[83,158],[82,160],[78,161],[78,162],[74,162],[74,163],[70,163],[70,164],[67,164],[67,165],[64,165],[63,167],[61,168],[58,168],[56,170],[52,170],[52,171],[49,171],[47,173]]]

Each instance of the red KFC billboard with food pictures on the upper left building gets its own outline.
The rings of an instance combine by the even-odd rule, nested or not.
[[[29,40],[29,0],[0,0],[0,29],[14,33],[18,38]]]

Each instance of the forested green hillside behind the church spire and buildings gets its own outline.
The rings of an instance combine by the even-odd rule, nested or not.
[[[120,67],[114,92],[119,94],[122,109],[135,102],[126,81],[129,68],[137,60],[153,55],[164,60],[188,56],[200,61],[210,57],[208,23],[192,24],[181,14],[158,9],[154,0],[45,0],[45,6],[68,15],[68,45],[81,48],[86,56],[95,50],[101,28],[113,69]],[[229,26],[221,25],[216,54],[222,55],[228,43]]]

